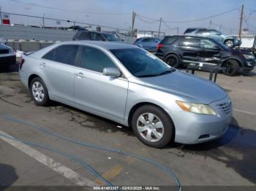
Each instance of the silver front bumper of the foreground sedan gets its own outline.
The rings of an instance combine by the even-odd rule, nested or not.
[[[220,138],[226,131],[232,119],[232,106],[223,112],[220,105],[228,104],[230,98],[214,101],[210,105],[217,115],[194,114],[191,112],[176,112],[173,122],[176,128],[175,141],[181,144],[199,144]]]

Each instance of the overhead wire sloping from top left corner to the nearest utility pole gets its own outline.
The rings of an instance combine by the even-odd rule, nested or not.
[[[82,13],[82,14],[91,14],[91,15],[130,15],[130,12],[123,12],[123,13],[112,13],[112,12],[82,12],[82,11],[78,11],[78,10],[70,10],[70,9],[64,9],[64,8],[57,8],[57,7],[49,7],[49,6],[44,6],[44,5],[40,5],[40,4],[34,4],[34,3],[29,3],[29,2],[23,2],[23,1],[19,1],[19,0],[10,0],[10,1],[14,1],[16,3],[19,4],[27,4],[27,5],[31,5],[34,7],[42,7],[45,9],[55,9],[55,10],[59,10],[59,11],[65,11],[65,12],[76,12],[76,13]]]

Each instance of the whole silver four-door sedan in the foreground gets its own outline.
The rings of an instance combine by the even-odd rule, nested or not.
[[[217,139],[232,117],[221,87],[131,44],[61,42],[23,55],[19,71],[37,105],[59,101],[132,126],[151,147]]]

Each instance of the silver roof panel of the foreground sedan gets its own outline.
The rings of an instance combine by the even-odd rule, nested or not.
[[[96,47],[102,47],[106,50],[113,50],[113,49],[126,49],[126,48],[138,48],[132,44],[126,44],[122,42],[105,42],[105,41],[67,41],[67,42],[60,42],[59,44],[82,44],[82,45],[93,45]]]

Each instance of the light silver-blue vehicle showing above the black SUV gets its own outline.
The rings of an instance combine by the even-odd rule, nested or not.
[[[184,35],[209,37],[211,39],[222,42],[227,47],[236,47],[241,44],[241,41],[238,39],[237,36],[225,35],[214,29],[187,28],[187,30],[184,32]]]

